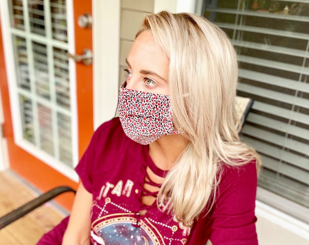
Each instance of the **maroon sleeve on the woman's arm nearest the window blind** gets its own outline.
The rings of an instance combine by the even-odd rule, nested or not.
[[[218,199],[208,220],[213,245],[257,245],[255,160],[240,167],[225,167],[218,186]]]

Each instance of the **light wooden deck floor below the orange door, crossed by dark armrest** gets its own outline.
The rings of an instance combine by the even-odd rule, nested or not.
[[[0,217],[32,200],[38,194],[11,171],[0,172]],[[0,230],[0,245],[36,244],[64,217],[47,203]]]

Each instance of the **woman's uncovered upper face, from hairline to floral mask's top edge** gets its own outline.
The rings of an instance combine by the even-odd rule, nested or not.
[[[126,88],[169,95],[169,59],[155,43],[150,31],[142,32],[133,42],[126,59]]]

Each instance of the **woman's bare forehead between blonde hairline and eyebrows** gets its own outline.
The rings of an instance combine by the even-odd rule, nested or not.
[[[159,69],[168,72],[169,59],[163,49],[155,42],[151,31],[148,30],[142,32],[134,40],[128,54],[128,61],[131,66],[144,66],[141,69]]]

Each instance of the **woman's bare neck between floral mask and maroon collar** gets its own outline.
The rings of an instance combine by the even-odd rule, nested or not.
[[[188,143],[181,134],[164,135],[149,144],[149,156],[157,167],[170,170]]]

